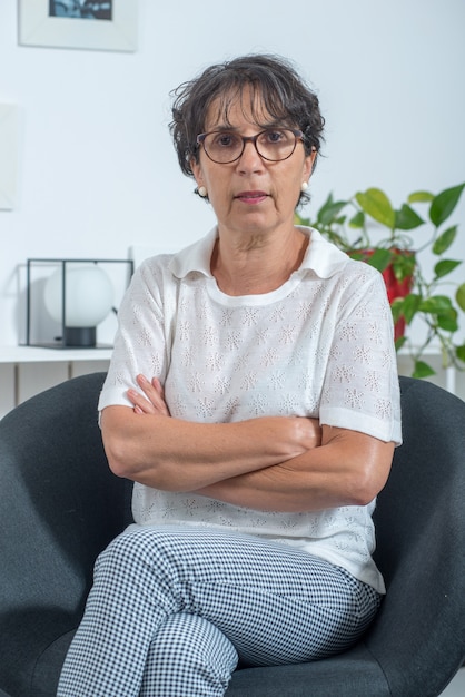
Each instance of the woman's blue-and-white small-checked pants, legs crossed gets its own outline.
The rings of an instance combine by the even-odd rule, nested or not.
[[[251,666],[350,646],[378,593],[291,547],[208,528],[130,528],[100,554],[58,697],[225,694]]]

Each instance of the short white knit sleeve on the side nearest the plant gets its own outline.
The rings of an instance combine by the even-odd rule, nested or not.
[[[320,422],[402,442],[394,327],[386,287],[376,269],[348,265],[336,312],[320,403]]]

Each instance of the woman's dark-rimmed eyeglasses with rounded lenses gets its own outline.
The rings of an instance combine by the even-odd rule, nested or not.
[[[239,159],[246,143],[253,143],[264,159],[278,163],[293,155],[297,140],[304,140],[304,134],[293,128],[266,128],[247,138],[230,130],[212,130],[197,136],[197,145],[202,145],[206,155],[219,165]]]

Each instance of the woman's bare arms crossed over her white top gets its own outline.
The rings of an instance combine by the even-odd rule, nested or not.
[[[112,471],[149,487],[236,505],[297,512],[365,505],[383,489],[394,444],[315,419],[269,416],[205,424],[174,419],[158,380],[138,376],[129,406],[107,406]]]

